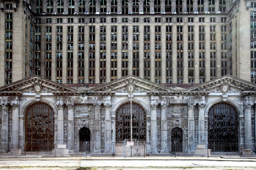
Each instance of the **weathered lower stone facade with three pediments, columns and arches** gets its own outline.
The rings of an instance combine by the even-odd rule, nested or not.
[[[201,146],[254,152],[255,90],[231,75],[183,86],[134,76],[62,85],[35,75],[0,88],[1,151],[51,153],[65,145],[67,153],[124,155],[132,136],[127,155],[198,154]]]

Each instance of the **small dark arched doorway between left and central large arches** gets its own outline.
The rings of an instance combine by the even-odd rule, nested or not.
[[[79,151],[90,151],[91,131],[90,129],[83,127],[79,131]]]

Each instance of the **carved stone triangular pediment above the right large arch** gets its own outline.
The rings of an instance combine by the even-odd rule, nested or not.
[[[232,75],[224,75],[205,83],[201,83],[187,89],[188,91],[209,91],[209,92],[243,92],[256,90],[256,84],[251,83]]]

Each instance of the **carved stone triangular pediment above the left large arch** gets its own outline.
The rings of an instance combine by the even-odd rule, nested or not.
[[[60,83],[56,83],[52,80],[42,78],[37,75],[32,75],[28,78],[13,82],[9,85],[0,87],[0,92],[20,92],[20,93],[44,93],[53,91],[74,91],[73,88]]]

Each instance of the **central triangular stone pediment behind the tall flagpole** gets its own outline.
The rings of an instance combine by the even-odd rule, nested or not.
[[[139,78],[136,76],[126,76],[120,79],[111,81],[109,83],[105,83],[94,87],[91,91],[114,91],[114,92],[129,92],[130,85],[132,84],[133,92],[149,92],[149,91],[173,91],[171,87],[165,87],[164,85],[160,85],[143,78]]]

